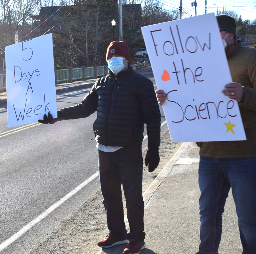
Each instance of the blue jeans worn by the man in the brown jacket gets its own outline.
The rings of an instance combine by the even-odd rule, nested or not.
[[[243,254],[256,253],[256,158],[200,157],[200,240],[197,254],[218,254],[222,213],[230,187]]]

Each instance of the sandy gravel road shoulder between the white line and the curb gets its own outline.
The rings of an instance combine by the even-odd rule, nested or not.
[[[159,166],[153,173],[148,173],[144,165],[142,193],[144,193],[152,181],[157,178],[157,175],[173,157],[181,144],[182,143],[172,143],[168,130],[162,134],[159,148],[161,158]],[[143,150],[143,158],[145,158],[146,151],[147,149]],[[126,216],[126,210],[124,213]],[[99,189],[81,204],[71,216],[63,220],[60,226],[56,227],[42,242],[34,246],[28,254],[95,254],[100,251],[97,242],[107,234],[106,214]]]

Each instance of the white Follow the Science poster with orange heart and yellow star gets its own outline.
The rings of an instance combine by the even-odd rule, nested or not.
[[[246,140],[214,13],[142,27],[173,142]]]

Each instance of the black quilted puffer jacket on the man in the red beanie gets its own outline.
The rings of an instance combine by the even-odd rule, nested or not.
[[[96,141],[108,146],[135,146],[143,141],[147,124],[148,143],[160,144],[160,111],[152,81],[132,71],[132,66],[115,76],[96,81],[84,100],[61,109],[59,117],[78,119],[97,110],[93,124]]]

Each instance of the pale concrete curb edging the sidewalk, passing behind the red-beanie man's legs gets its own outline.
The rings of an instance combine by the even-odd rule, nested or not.
[[[180,160],[180,157],[182,154],[188,149],[189,142],[184,142],[178,151],[172,156],[172,158],[169,160],[169,162],[164,166],[164,168],[161,170],[161,172],[157,175],[155,180],[150,184],[148,189],[143,194],[143,200],[144,200],[144,208],[149,204],[150,200],[156,193],[159,186],[162,184],[164,179],[171,173],[172,167],[174,165],[180,164],[178,161]],[[129,223],[127,216],[124,218],[125,226],[127,228],[127,231],[129,230]],[[105,252],[107,251],[107,252]],[[115,248],[108,248],[108,249],[101,249],[97,254],[116,254]]]

